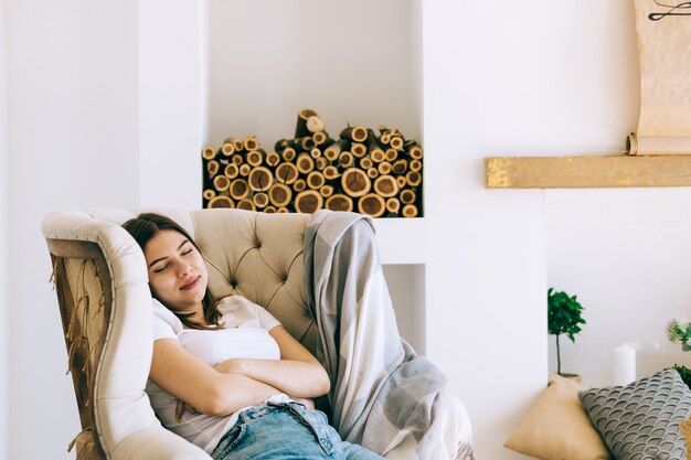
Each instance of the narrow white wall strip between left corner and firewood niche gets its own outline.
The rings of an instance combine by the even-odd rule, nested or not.
[[[139,203],[202,205],[200,139],[206,130],[203,2],[137,2]]]

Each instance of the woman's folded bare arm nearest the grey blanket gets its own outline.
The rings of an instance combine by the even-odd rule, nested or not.
[[[298,398],[315,398],[329,391],[327,372],[312,354],[293,338],[283,325],[269,331],[280,360],[232,359],[216,364],[224,373],[242,374]]]

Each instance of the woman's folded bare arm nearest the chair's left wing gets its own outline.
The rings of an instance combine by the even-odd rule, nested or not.
[[[149,378],[200,413],[212,416],[230,415],[281,393],[247,375],[214,370],[174,339],[153,342]]]

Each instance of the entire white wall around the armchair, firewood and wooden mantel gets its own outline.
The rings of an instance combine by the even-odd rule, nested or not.
[[[630,1],[413,0],[403,10],[362,1],[354,6],[365,23],[391,10],[363,39],[339,22],[352,12],[337,2],[0,1],[9,458],[63,458],[77,431],[41,217],[62,206],[198,207],[204,142],[290,136],[304,107],[328,127],[384,121],[424,138],[425,218],[381,223],[379,235],[389,264],[424,264],[426,352],[466,403],[479,458],[519,458],[501,445],[546,381],[548,280],[587,308],[588,328],[565,353],[589,381],[607,379],[612,338],[646,344],[646,368],[676,357],[648,344],[662,341],[660,321],[687,309],[685,190],[483,188],[487,156],[623,149],[638,107]],[[222,42],[214,21],[225,9],[244,13],[221,24],[232,39],[227,62],[213,58]],[[237,35],[243,28],[256,35]],[[360,75],[351,49],[319,39],[330,33],[365,47],[383,43],[402,71],[391,76],[374,62],[361,68],[378,72]],[[321,64],[311,72],[310,51]],[[227,76],[227,66],[247,60],[254,73]],[[358,98],[362,92],[372,104]],[[51,427],[41,442],[35,414]]]

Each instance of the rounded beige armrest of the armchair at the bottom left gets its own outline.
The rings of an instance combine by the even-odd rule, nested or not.
[[[163,427],[143,428],[123,439],[111,460],[210,460],[199,447]]]

